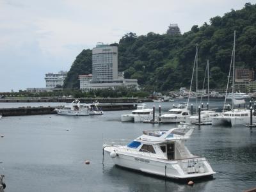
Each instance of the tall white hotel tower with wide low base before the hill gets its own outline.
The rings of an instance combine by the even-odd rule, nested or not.
[[[117,47],[102,43],[98,43],[92,50],[92,77],[91,75],[83,75],[79,76],[79,80],[82,90],[115,89],[117,86],[132,86],[138,89],[137,79],[125,79],[124,72],[118,72]]]

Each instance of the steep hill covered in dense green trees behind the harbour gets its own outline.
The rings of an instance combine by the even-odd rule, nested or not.
[[[118,44],[118,71],[126,78],[136,78],[145,90],[173,90],[189,86],[198,44],[200,86],[206,60],[210,62],[211,88],[224,88],[230,66],[236,32],[236,66],[256,68],[256,5],[246,3],[242,10],[231,10],[210,24],[193,26],[183,35],[148,33],[124,35]],[[77,88],[77,75],[92,72],[92,51],[77,56],[65,80],[66,88]]]

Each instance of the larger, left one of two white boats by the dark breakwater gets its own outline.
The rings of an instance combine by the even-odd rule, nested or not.
[[[76,115],[84,116],[89,115],[90,108],[86,104],[80,104],[79,100],[74,100],[71,104],[61,109],[55,109],[58,115]]]

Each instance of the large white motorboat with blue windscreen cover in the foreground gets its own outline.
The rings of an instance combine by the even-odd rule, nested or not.
[[[168,131],[143,131],[128,145],[124,145],[125,140],[115,140],[107,141],[103,148],[114,164],[140,172],[172,179],[212,176],[216,172],[207,159],[191,154],[185,146],[193,130],[188,125],[179,125]]]

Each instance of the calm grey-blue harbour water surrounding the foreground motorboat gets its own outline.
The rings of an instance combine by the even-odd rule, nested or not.
[[[172,104],[161,103],[163,112]],[[13,107],[12,103],[9,105]],[[147,103],[148,107],[152,105]],[[222,105],[218,100],[212,102],[214,108]],[[0,108],[3,108],[1,103]],[[0,135],[4,138],[0,138],[0,174],[6,176],[5,191],[215,192],[243,191],[256,186],[256,129],[246,127],[205,125],[195,128],[186,146],[193,154],[206,157],[217,173],[214,179],[198,181],[193,187],[118,168],[108,154],[104,156],[103,166],[104,138],[132,140],[145,129],[176,126],[120,122],[120,115],[129,112],[106,111],[102,116],[2,118]],[[90,164],[84,164],[86,159]]]

